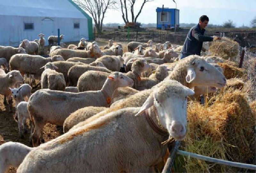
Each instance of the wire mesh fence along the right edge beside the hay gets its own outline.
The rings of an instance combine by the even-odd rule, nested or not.
[[[240,47],[241,67],[247,71],[247,79],[250,82],[250,90],[248,92],[250,101],[256,100],[256,54],[250,52],[246,47]],[[243,55],[244,54],[244,55]]]

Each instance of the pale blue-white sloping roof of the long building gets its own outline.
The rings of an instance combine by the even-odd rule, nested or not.
[[[84,13],[70,0],[0,0],[0,15],[5,16],[88,18]]]

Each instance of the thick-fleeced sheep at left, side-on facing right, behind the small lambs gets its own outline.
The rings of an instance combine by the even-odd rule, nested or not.
[[[43,69],[40,69],[48,62],[64,61],[61,56],[45,58],[39,55],[16,54],[11,57],[10,69],[19,70],[21,74],[33,74],[35,78],[40,78]]]

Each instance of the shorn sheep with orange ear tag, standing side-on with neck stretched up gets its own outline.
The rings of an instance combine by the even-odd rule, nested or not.
[[[29,114],[34,125],[34,132],[32,134],[33,146],[39,145],[38,138],[40,132],[47,122],[62,125],[70,113],[77,109],[85,106],[108,107],[111,103],[112,94],[117,87],[132,85],[132,79],[124,76],[121,72],[113,72],[108,76],[104,86],[99,91],[81,93],[45,89],[36,91],[31,95],[28,102]]]

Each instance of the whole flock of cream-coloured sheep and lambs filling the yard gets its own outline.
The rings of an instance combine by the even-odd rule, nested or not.
[[[123,53],[112,40],[104,50],[84,38],[63,49],[50,36],[45,58],[38,55],[44,34],[38,36],[19,48],[0,46],[0,94],[10,112],[15,99],[21,137],[30,120],[33,144],[1,145],[0,172],[11,166],[17,172],[153,172],[166,153],[163,142],[186,136],[187,97],[197,100],[226,85],[215,64],[224,60],[179,60],[181,47],[170,41],[132,41]],[[32,95],[30,85],[20,86],[27,75],[40,80]],[[63,125],[64,134],[40,145],[46,123]]]

